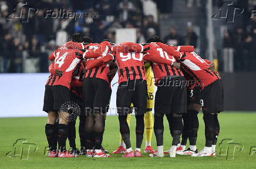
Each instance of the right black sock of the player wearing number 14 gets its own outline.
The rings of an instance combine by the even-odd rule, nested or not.
[[[66,140],[68,137],[68,125],[66,124],[58,124],[58,143],[59,143],[59,150],[65,151],[66,150]]]

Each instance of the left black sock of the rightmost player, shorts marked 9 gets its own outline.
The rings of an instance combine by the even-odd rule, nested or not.
[[[214,114],[204,114],[204,126],[205,136],[206,136],[206,147],[211,147],[213,145],[213,140],[215,137],[215,123]]]

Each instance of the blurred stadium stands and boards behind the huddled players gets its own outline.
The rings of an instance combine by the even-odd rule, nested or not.
[[[33,11],[28,15],[29,8],[23,5],[24,2],[38,8],[36,15],[33,16]],[[4,108],[9,111],[6,114],[23,112],[21,107],[25,107],[28,100],[21,98],[26,95],[38,103],[30,104],[31,111],[41,109],[43,85],[48,76],[48,56],[57,46],[63,45],[73,32],[82,32],[94,42],[110,39],[116,43],[126,40],[142,43],[150,36],[161,36],[173,45],[193,45],[202,58],[215,62],[223,77],[225,110],[256,111],[256,16],[250,18],[251,9],[256,9],[256,1],[230,1],[244,9],[239,16],[239,12],[234,13],[234,22],[228,22],[230,19],[232,21],[233,15],[228,15],[231,18],[227,19],[211,18],[220,12],[222,2],[224,1],[0,1],[1,88],[8,87],[7,89],[12,90],[5,90],[3,96],[6,97],[1,97],[1,102],[6,106]],[[59,9],[67,12],[91,11],[96,13],[96,17],[83,17],[76,21],[72,18],[44,18],[45,11],[49,9],[56,12]],[[225,12],[228,8],[224,6],[221,10]],[[19,13],[22,13],[21,19],[6,19]],[[22,22],[25,19],[28,22]],[[31,83],[32,78],[37,81]],[[28,86],[31,91],[25,90]],[[17,91],[19,94],[15,102],[19,104],[12,107],[8,104],[9,99],[14,99]]]

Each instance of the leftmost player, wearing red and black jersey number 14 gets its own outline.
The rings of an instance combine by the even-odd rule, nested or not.
[[[76,33],[72,35],[72,41],[82,42],[83,36]],[[49,157],[74,157],[66,151],[66,138],[69,133],[69,116],[68,110],[60,112],[60,107],[71,101],[70,83],[73,71],[80,62],[76,53],[83,55],[83,52],[77,49],[68,49],[66,46],[60,46],[52,55],[50,60],[54,60],[54,66],[51,75],[45,86],[45,98],[43,111],[48,113],[48,121],[45,126],[45,133],[50,147]],[[61,70],[63,73],[58,76],[56,71]],[[57,71],[58,72],[58,71]],[[59,115],[59,124],[56,125],[57,113]],[[56,140],[58,140],[58,151],[56,151]]]

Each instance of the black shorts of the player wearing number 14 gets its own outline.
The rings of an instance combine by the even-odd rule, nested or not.
[[[45,98],[43,100],[43,111],[59,111],[63,103],[70,102],[71,92],[68,87],[56,85],[45,86]]]

